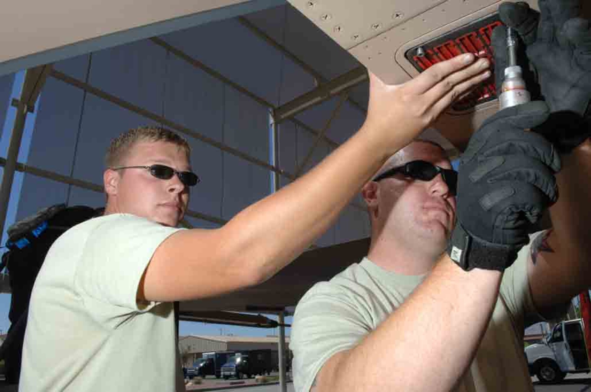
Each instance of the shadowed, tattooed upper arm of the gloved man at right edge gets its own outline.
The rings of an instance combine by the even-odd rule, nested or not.
[[[550,207],[553,229],[537,237],[528,264],[534,305],[544,316],[591,287],[591,141],[562,158],[560,197]]]

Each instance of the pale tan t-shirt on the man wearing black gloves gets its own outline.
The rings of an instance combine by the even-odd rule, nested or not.
[[[539,319],[527,278],[529,249],[524,247],[505,271],[491,322],[456,391],[533,391],[523,345],[525,322]],[[355,347],[423,279],[389,272],[364,258],[329,282],[314,285],[298,303],[291,329],[295,390],[309,391],[324,362]],[[531,315],[528,321],[525,315]],[[383,358],[375,361],[384,365]]]

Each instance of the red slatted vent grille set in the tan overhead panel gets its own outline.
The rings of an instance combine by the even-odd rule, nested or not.
[[[501,25],[498,15],[493,15],[468,27],[449,32],[443,37],[438,37],[423,45],[411,48],[407,51],[406,57],[421,72],[433,66],[433,64],[449,60],[462,53],[473,53],[477,57],[486,57],[494,67],[495,59],[491,48],[491,35],[492,30]],[[418,48],[423,50],[423,55],[417,55]],[[452,109],[462,112],[493,99],[496,99],[494,73],[472,93],[454,103]]]

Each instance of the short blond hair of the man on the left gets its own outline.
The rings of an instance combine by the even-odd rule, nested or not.
[[[115,168],[123,165],[129,150],[138,142],[174,143],[179,148],[184,149],[187,153],[187,159],[191,155],[189,143],[177,133],[158,126],[141,126],[139,128],[129,129],[111,141],[111,145],[105,155],[105,166],[107,168]]]

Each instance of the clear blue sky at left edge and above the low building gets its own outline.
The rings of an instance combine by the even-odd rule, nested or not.
[[[24,80],[24,72],[21,71],[15,74],[14,83],[12,85],[11,97],[7,102],[0,102],[0,110],[6,108],[6,118],[2,125],[2,138],[0,139],[0,152],[2,156],[6,157],[8,152],[9,138],[12,133],[12,126],[14,124],[14,118],[16,109],[10,105],[11,99],[18,98],[21,92],[22,81]],[[21,149],[18,155],[19,162],[27,162],[28,152],[31,145],[31,138],[33,137],[34,126],[35,126],[35,113],[37,113],[38,107],[43,104],[43,96],[41,95],[37,101],[35,111],[27,115],[27,123],[23,132]],[[0,168],[1,172],[1,168]],[[23,175],[20,172],[15,173],[14,182],[12,184],[11,199],[8,206],[7,220],[4,227],[4,233],[2,235],[2,244],[7,241],[7,228],[14,223],[15,217],[18,210],[18,199],[22,188]],[[10,294],[0,294],[0,333],[5,334],[10,326],[8,319],[8,312],[10,309]],[[266,315],[269,318],[277,319],[277,316]],[[291,324],[291,317],[285,318],[286,324]],[[267,329],[267,328],[251,328],[241,327],[232,325],[220,325],[220,324],[205,324],[198,322],[180,322],[179,326],[180,335],[243,335],[243,336],[267,336],[276,335],[279,333],[278,329]],[[286,329],[286,334],[289,335],[290,329]]]

